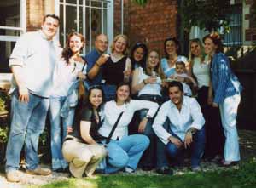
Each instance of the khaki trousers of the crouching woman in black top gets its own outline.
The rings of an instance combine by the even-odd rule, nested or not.
[[[107,151],[102,145],[87,145],[76,140],[66,140],[62,146],[63,157],[69,162],[69,171],[76,178],[85,173],[90,177]]]

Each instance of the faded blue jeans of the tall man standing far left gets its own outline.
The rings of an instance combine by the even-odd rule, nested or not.
[[[11,101],[11,127],[6,150],[5,170],[20,168],[20,151],[25,142],[26,168],[38,167],[38,139],[43,133],[49,99],[29,94],[28,103],[20,102],[17,89]]]

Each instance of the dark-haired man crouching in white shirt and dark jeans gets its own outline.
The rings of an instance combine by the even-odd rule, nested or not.
[[[201,107],[195,98],[183,95],[183,85],[180,82],[169,83],[168,94],[170,100],[161,105],[153,123],[155,134],[165,144],[165,150],[158,150],[157,155],[164,156],[166,152],[172,162],[179,163],[184,151],[189,149],[191,169],[199,171],[206,140]],[[169,125],[164,128],[166,119],[169,120]],[[159,168],[158,172],[165,174],[166,167]]]

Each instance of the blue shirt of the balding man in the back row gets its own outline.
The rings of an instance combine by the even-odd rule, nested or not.
[[[93,49],[89,54],[85,55],[85,60],[87,61],[87,73],[90,71],[90,69],[96,64],[96,61],[100,58],[102,54],[100,54],[96,49]],[[102,67],[100,67],[100,70],[96,77],[93,80],[90,80],[89,78],[86,79],[86,83],[88,83],[89,86],[98,85],[101,84],[102,81]]]

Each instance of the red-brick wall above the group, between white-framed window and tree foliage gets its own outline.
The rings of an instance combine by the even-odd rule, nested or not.
[[[121,5],[114,1],[114,35],[119,34]],[[176,0],[150,0],[140,7],[131,0],[124,0],[124,33],[131,46],[136,42],[148,44],[149,49],[158,49],[163,54],[166,37],[176,36]]]

